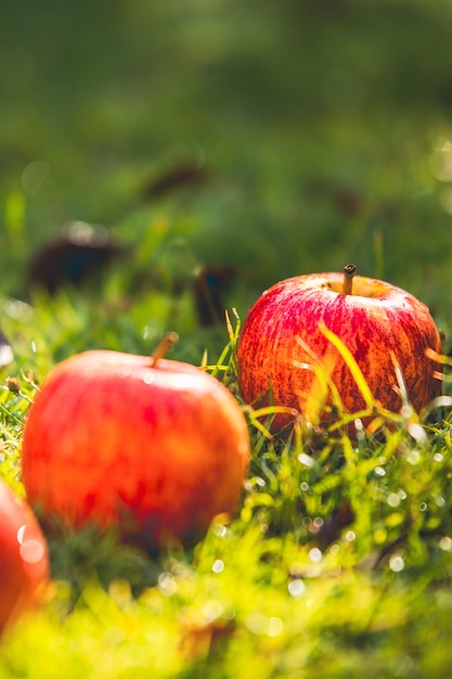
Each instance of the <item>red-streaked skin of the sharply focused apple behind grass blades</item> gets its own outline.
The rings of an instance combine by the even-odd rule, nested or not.
[[[437,367],[425,355],[427,348],[441,353],[428,308],[408,292],[377,279],[354,277],[352,294],[343,293],[343,281],[339,272],[297,276],[276,283],[257,299],[237,344],[238,386],[246,403],[268,403],[271,386],[272,403],[306,414],[317,377],[299,364],[312,364],[306,349],[310,347],[321,360],[326,351],[333,357],[331,379],[346,411],[365,408],[350,370],[322,333],[322,323],[348,347],[374,398],[387,410],[398,412],[402,406],[391,353],[417,412],[440,394],[441,382],[434,374]],[[272,431],[293,419],[277,414]],[[319,421],[327,419],[323,405]],[[364,422],[369,420],[364,418]]]

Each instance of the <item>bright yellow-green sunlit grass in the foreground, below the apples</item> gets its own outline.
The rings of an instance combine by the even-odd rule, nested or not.
[[[238,331],[231,311],[218,360],[199,353],[235,394]],[[16,373],[0,394],[0,473],[22,492],[22,426],[39,384]],[[354,441],[299,422],[275,439],[271,407],[244,411],[253,460],[237,514],[153,559],[94,528],[49,535],[48,603],[3,640],[0,676],[443,676],[450,406],[422,423],[425,436],[400,414],[384,437],[360,430]]]

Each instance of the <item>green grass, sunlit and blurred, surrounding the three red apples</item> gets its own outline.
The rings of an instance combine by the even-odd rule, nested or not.
[[[289,276],[353,261],[425,302],[450,351],[451,2],[24,0],[1,14],[14,362],[0,476],[18,494],[27,409],[56,361],[148,354],[173,330],[171,356],[218,362],[236,394],[234,333]],[[73,222],[121,254],[50,295],[30,262]],[[208,320],[206,271],[221,293]],[[193,549],[49,536],[48,604],[3,640],[0,677],[450,677],[450,401],[425,435],[400,415],[384,443],[344,435],[315,453],[247,418],[241,507]]]

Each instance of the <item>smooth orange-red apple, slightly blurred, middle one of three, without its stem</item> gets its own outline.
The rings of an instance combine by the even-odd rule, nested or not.
[[[250,446],[237,401],[201,369],[90,350],[49,373],[22,454],[27,497],[44,518],[115,526],[156,551],[236,510]]]

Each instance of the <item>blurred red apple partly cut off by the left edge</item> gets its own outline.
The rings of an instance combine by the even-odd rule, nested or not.
[[[0,633],[42,603],[49,578],[38,521],[28,502],[0,479]]]

